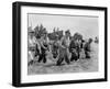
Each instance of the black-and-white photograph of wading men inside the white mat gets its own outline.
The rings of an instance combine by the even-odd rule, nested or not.
[[[98,71],[98,19],[28,13],[28,75]]]

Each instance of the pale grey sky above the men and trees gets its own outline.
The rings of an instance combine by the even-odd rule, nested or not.
[[[43,24],[47,32],[53,32],[54,27],[59,27],[64,32],[69,30],[72,35],[76,32],[82,34],[84,38],[98,36],[98,16],[82,15],[53,15],[53,14],[28,14],[29,26],[34,29]]]

